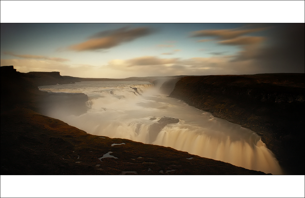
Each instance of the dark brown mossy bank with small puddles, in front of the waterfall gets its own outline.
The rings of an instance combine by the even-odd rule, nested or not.
[[[40,85],[13,66],[1,67],[1,175],[265,174],[170,147],[87,134],[38,113],[45,103],[76,108],[86,98],[63,94],[62,101],[60,94],[39,91]],[[163,118],[155,131],[172,122]]]

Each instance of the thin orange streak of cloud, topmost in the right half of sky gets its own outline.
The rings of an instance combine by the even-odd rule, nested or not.
[[[258,32],[266,30],[266,28],[254,28],[254,29],[224,29],[224,30],[199,30],[191,33],[191,37],[205,37],[205,36],[214,36],[219,39],[232,39],[244,34],[249,34],[253,32]]]

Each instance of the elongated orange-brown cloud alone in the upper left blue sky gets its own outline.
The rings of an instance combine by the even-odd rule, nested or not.
[[[107,30],[99,32],[91,37],[88,41],[71,45],[68,47],[74,51],[94,51],[99,49],[109,49],[120,45],[124,42],[133,41],[139,37],[151,34],[153,31],[148,27],[138,27],[128,29],[128,27],[116,30]]]

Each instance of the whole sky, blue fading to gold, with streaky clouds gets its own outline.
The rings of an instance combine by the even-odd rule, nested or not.
[[[304,73],[304,23],[4,22],[0,65],[19,72],[87,78]]]

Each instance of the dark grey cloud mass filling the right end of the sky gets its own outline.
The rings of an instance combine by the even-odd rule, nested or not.
[[[304,23],[279,24],[271,29],[265,46],[245,46],[236,61],[253,60],[265,72],[304,73]]]

